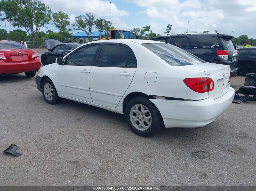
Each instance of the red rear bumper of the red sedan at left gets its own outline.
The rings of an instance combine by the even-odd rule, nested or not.
[[[17,74],[21,72],[33,72],[39,70],[41,63],[39,58],[35,58],[34,61],[30,62],[17,62],[17,63],[6,63],[0,60],[0,73],[4,74]]]

